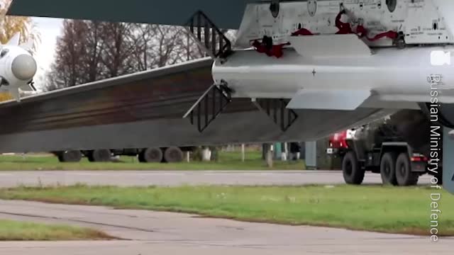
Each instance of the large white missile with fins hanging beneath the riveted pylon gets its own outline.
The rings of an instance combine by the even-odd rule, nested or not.
[[[289,41],[292,47],[278,59],[239,50],[225,63],[214,62],[214,81],[228,84],[233,97],[292,99],[288,108],[396,107],[389,102],[403,102],[398,107],[406,108],[411,102],[430,102],[434,89],[439,102],[454,103],[454,47],[384,47],[371,52],[356,35]],[[431,75],[437,86],[429,83]]]

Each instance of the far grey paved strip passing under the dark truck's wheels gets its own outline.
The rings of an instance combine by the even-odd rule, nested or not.
[[[0,187],[19,184],[115,186],[177,186],[182,184],[304,185],[344,183],[341,171],[0,171]],[[367,173],[364,183],[382,183],[380,174]],[[430,183],[421,176],[419,183]]]

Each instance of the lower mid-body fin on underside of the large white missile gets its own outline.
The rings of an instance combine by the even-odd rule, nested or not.
[[[369,90],[301,89],[287,108],[353,111],[371,95]]]

